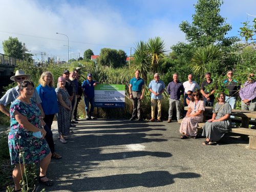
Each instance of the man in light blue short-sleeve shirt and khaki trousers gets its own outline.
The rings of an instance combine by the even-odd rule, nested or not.
[[[161,100],[162,93],[165,89],[165,84],[162,80],[160,80],[160,76],[158,73],[154,75],[154,80],[150,82],[148,89],[151,92],[151,120],[155,121],[155,109],[157,105],[157,121],[161,122]]]

